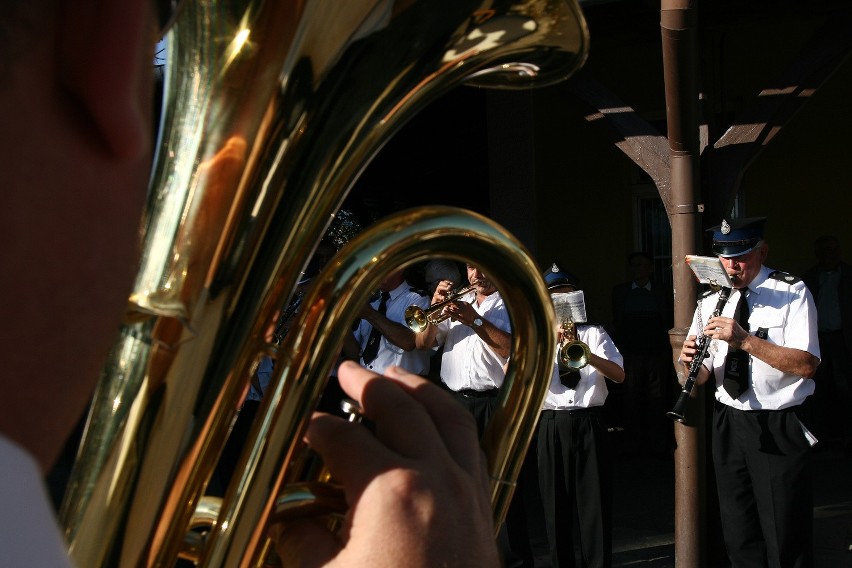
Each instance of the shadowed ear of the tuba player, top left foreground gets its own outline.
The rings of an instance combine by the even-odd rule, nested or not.
[[[62,0],[59,80],[116,157],[148,152],[156,41],[151,0]]]

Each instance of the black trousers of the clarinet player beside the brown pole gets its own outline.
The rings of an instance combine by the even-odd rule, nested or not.
[[[716,402],[712,448],[732,566],[813,566],[810,444],[796,409]]]

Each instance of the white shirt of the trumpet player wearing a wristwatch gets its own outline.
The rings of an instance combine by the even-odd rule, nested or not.
[[[470,292],[460,301],[471,301]],[[509,311],[499,292],[486,296],[482,304],[473,308],[483,319],[488,320],[507,333],[512,332]],[[446,319],[438,324],[438,345],[444,346],[441,357],[441,380],[450,390],[487,390],[500,388],[505,378],[503,371],[507,357],[501,357],[476,335],[473,328],[458,321]]]

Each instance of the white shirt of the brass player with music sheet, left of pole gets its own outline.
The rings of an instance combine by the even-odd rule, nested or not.
[[[612,342],[609,334],[603,327],[597,325],[578,325],[577,339],[589,346],[589,351],[624,367],[624,358]],[[558,347],[556,356],[559,356]],[[545,410],[574,410],[578,408],[591,408],[603,406],[609,389],[606,385],[606,377],[603,373],[586,365],[580,369],[580,381],[575,389],[569,389],[559,381],[559,366],[553,363],[553,375],[550,378],[550,389],[544,399]]]

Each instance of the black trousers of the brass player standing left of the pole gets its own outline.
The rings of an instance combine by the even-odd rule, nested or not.
[[[612,566],[612,462],[601,407],[542,411],[538,474],[552,566],[576,565],[575,533],[581,566]]]

